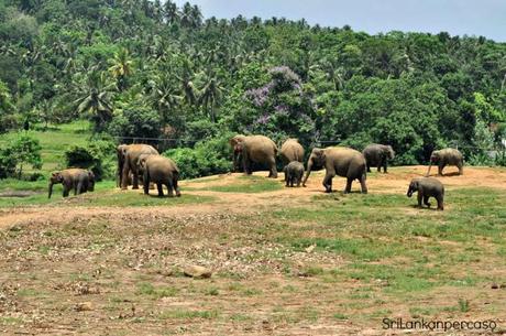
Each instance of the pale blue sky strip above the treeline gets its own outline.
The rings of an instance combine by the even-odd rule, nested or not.
[[[182,6],[185,0],[175,0]],[[506,0],[189,0],[205,18],[285,17],[371,34],[446,31],[506,42]]]

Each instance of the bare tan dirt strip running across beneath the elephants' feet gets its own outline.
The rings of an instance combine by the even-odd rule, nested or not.
[[[506,188],[506,171],[488,167],[466,167],[464,175],[455,175],[457,170],[447,169],[447,175],[438,177],[447,188],[452,187],[492,187]],[[367,177],[370,193],[399,193],[406,192],[409,181],[414,177],[422,176],[426,166],[405,166],[392,167],[388,174],[372,173]],[[264,176],[265,172],[256,172],[256,176]],[[283,187],[275,192],[264,193],[230,193],[198,191],[198,188],[212,186],[227,186],[238,183],[238,177],[242,174],[224,174],[219,176],[204,177],[196,181],[182,182],[184,194],[213,196],[217,200],[204,204],[185,204],[176,206],[150,206],[150,207],[87,207],[87,206],[37,206],[18,207],[0,209],[0,228],[13,225],[33,223],[70,223],[82,218],[122,218],[129,219],[129,213],[134,213],[136,218],[142,216],[150,217],[179,217],[190,214],[253,214],[263,209],[283,208],[287,205],[305,205],[311,196],[323,193],[321,180],[323,172],[314,172],[307,183],[307,187],[286,188]],[[436,176],[432,174],[432,176]],[[239,181],[241,183],[241,181]],[[278,178],[283,184],[283,174]],[[334,191],[344,188],[345,180],[336,177],[333,182]],[[194,189],[186,191],[185,187]],[[197,189],[195,189],[197,188]],[[359,184],[353,184],[353,189],[358,189]],[[129,193],[140,193],[139,191],[128,191]],[[142,197],[142,195],[140,195]]]

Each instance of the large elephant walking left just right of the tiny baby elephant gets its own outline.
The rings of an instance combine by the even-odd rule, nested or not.
[[[308,159],[302,186],[306,186],[311,170],[320,167],[324,167],[327,171],[323,178],[326,193],[332,192],[332,178],[336,175],[346,177],[344,194],[351,192],[351,183],[353,180],[360,181],[363,194],[367,193],[367,186],[365,184],[366,164],[365,158],[361,152],[340,147],[330,147],[326,149],[315,148]]]

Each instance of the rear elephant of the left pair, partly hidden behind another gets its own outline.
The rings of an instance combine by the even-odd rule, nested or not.
[[[120,144],[117,148],[118,176],[122,189],[128,188],[129,174],[132,174],[132,188],[139,189],[138,161],[142,154],[158,154],[158,151],[148,144]]]

